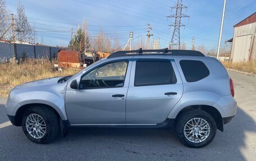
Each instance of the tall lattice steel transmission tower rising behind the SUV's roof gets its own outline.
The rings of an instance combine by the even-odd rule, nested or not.
[[[185,15],[182,13],[182,9],[187,9],[188,7],[182,4],[182,0],[177,0],[177,4],[175,6],[172,6],[171,8],[175,9],[176,13],[173,15],[167,16],[168,18],[175,18],[175,23],[172,25],[169,25],[169,26],[174,26],[169,48],[180,49],[180,26],[185,26],[184,24],[181,24],[181,18],[189,17],[188,15]]]

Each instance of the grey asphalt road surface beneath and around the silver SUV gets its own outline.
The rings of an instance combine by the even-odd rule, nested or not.
[[[187,148],[173,130],[95,128],[70,128],[65,139],[38,145],[8,122],[0,98],[0,160],[256,160],[256,77],[230,75],[236,117],[204,148]]]

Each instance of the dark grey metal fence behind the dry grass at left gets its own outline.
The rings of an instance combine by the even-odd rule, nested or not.
[[[0,62],[6,62],[10,58],[47,58],[58,56],[61,47],[49,47],[44,45],[9,44],[0,42]]]

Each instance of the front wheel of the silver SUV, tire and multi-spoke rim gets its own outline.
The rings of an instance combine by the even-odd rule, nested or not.
[[[33,119],[33,117],[35,119]],[[28,118],[28,120],[27,120],[27,118]],[[27,122],[27,125],[29,125],[29,123],[32,124],[30,121],[31,120],[35,121],[37,118],[40,120],[39,122],[42,124],[35,125],[35,123],[33,123],[33,125],[31,125],[32,127],[29,127],[29,129],[33,129],[33,127],[39,128],[39,125],[40,125],[41,133],[39,135],[39,131],[35,132],[35,130],[34,131],[31,130],[31,131],[33,131],[33,132],[30,131],[31,135],[38,133],[38,135],[35,134],[35,135],[33,135],[34,136],[33,137],[29,134],[29,132],[26,128],[26,122]],[[35,127],[35,126],[37,126],[37,127]],[[37,144],[46,144],[46,143],[54,140],[56,138],[56,136],[58,135],[59,128],[60,128],[60,123],[58,120],[58,116],[51,108],[48,108],[48,107],[28,108],[25,110],[24,115],[22,116],[22,130],[24,131],[26,137],[28,137],[29,140],[31,140]]]

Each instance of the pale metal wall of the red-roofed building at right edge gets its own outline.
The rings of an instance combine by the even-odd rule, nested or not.
[[[248,52],[250,53],[252,49],[253,49],[252,59],[256,61],[255,41],[253,43],[253,38],[255,36],[255,27],[256,27],[256,22],[252,24],[235,27],[234,37],[232,42],[232,50],[231,50],[231,61],[233,62],[249,61],[250,54],[248,55]],[[249,51],[248,51],[248,48],[246,48],[248,46],[249,46]]]

